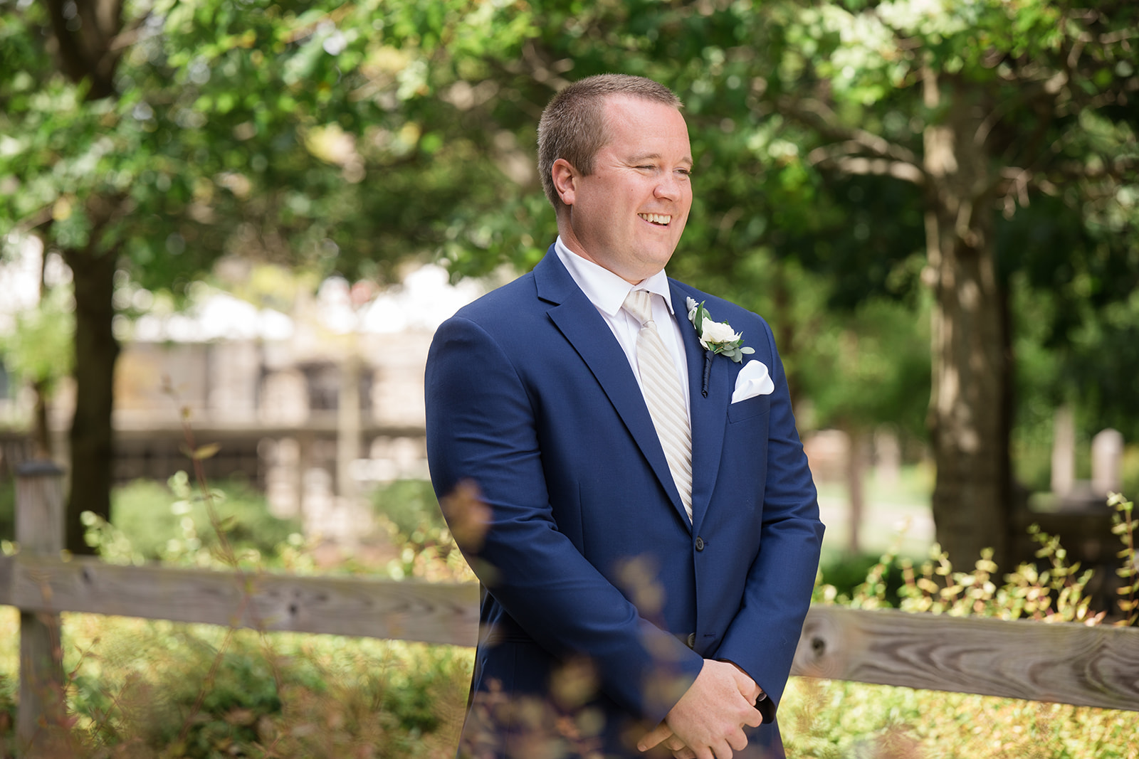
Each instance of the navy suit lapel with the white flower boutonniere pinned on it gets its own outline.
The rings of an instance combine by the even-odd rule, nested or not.
[[[688,321],[688,292],[674,280],[669,280],[672,290],[672,308],[685,338],[685,357],[688,362],[688,396],[693,419],[693,529],[699,530],[700,520],[707,511],[720,469],[723,452],[724,426],[728,421],[728,402],[738,365],[723,356],[705,357],[696,329]],[[704,388],[704,364],[711,361],[707,396]]]

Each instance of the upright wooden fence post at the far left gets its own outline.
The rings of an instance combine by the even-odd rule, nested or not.
[[[52,461],[16,467],[16,541],[21,553],[58,559],[64,547],[63,470]],[[67,713],[57,612],[19,613],[19,711],[16,744],[25,756],[49,748]]]

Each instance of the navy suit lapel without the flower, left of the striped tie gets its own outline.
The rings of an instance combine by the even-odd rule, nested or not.
[[[649,416],[648,406],[645,405],[645,396],[629,368],[629,360],[616,339],[609,339],[612,332],[608,324],[570,277],[552,246],[534,267],[534,282],[538,287],[538,297],[552,304],[547,312],[550,319],[597,378],[653,472],[664,486],[673,508],[687,523],[688,515],[685,513],[672,472],[669,471],[669,462],[664,457],[664,448],[661,447],[656,428],[653,427],[653,418]]]

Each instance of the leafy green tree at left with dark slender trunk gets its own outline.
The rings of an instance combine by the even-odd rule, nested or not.
[[[472,129],[485,92],[456,89],[457,72],[513,55],[527,16],[434,0],[0,6],[0,234],[40,236],[74,273],[67,545],[83,551],[79,514],[109,512],[115,272],[178,292],[235,253],[382,279],[439,248],[460,199],[470,216],[500,205],[492,158],[509,148]]]

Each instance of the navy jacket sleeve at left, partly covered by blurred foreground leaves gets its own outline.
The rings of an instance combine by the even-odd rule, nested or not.
[[[533,398],[511,356],[480,324],[449,320],[428,354],[426,401],[436,492],[470,479],[491,510],[478,556],[468,556],[489,592],[555,657],[587,653],[623,708],[663,719],[703,660],[642,619],[559,531]]]

